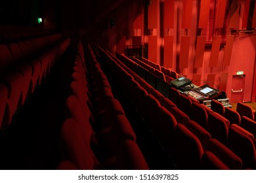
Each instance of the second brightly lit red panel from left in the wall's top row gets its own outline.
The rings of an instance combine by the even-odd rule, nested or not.
[[[165,0],[164,27],[173,29],[174,25],[174,0]]]

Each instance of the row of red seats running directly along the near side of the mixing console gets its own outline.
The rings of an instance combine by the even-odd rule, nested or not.
[[[173,96],[172,100],[175,104],[192,120],[206,129],[212,138],[222,142],[235,152],[243,160],[244,168],[255,169],[256,123],[253,120],[246,116],[241,118],[240,114],[242,113],[239,114],[232,108],[224,108],[219,101],[212,100],[210,109],[191,97],[182,95],[175,88],[171,88],[170,91],[170,96]],[[238,104],[238,111],[241,106],[244,104]]]

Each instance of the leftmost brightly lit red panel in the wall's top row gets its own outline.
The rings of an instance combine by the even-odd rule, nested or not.
[[[158,28],[159,0],[152,0],[148,7],[148,29]]]

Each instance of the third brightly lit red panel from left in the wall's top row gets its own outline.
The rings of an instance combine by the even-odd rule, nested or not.
[[[183,0],[182,10],[182,29],[188,29],[191,27],[192,22],[192,0]]]

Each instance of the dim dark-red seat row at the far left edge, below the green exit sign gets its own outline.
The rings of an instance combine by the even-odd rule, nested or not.
[[[58,40],[57,38],[51,37],[49,42]],[[37,44],[40,45],[40,42]],[[25,60],[22,64],[17,65],[15,68],[11,68],[5,75],[1,76],[0,81],[0,126],[4,127],[11,123],[12,116],[15,114],[16,109],[21,107],[26,96],[33,93],[35,87],[41,84],[41,80],[47,76],[51,71],[54,64],[63,52],[70,44],[70,39],[66,39],[62,42],[58,42],[49,50],[41,50],[41,54],[31,60]],[[39,47],[38,45],[38,47]],[[6,48],[6,45],[1,44],[1,48]],[[32,50],[26,48],[27,52],[33,52]],[[38,50],[39,51],[39,50]],[[1,50],[5,58],[1,58],[1,61],[8,59],[13,59],[12,55],[9,55],[8,50]],[[18,55],[18,52],[13,52]],[[14,54],[13,54],[14,56]]]

